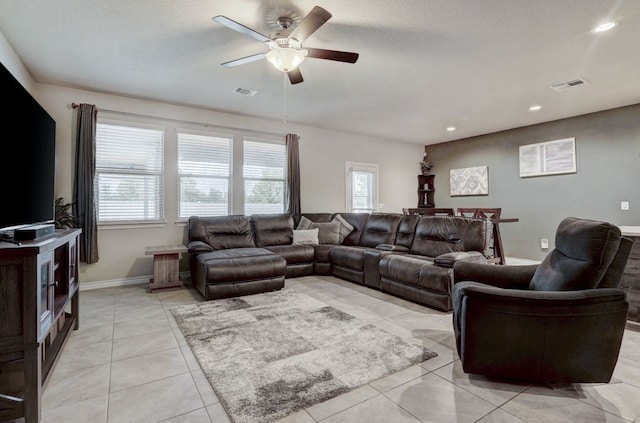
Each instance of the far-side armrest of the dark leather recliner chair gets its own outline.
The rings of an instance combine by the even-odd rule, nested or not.
[[[480,282],[500,288],[527,289],[537,264],[528,266],[503,266],[460,261],[453,265],[454,283]]]

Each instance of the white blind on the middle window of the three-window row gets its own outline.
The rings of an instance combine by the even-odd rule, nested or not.
[[[233,138],[178,132],[179,219],[230,214]]]

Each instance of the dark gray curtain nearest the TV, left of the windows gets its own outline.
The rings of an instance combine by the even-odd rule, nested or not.
[[[93,184],[96,174],[96,115],[92,104],[80,104],[76,132],[76,174],[73,186],[73,214],[82,228],[80,261],[92,264],[98,257],[98,225]]]

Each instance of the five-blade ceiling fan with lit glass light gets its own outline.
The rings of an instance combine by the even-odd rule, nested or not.
[[[293,19],[286,16],[278,18],[277,23],[280,29],[267,37],[226,16],[215,16],[213,18],[215,22],[265,43],[270,49],[266,53],[258,53],[222,63],[222,66],[234,67],[267,59],[276,69],[286,72],[292,84],[299,84],[303,79],[298,65],[304,61],[305,57],[355,63],[358,60],[358,53],[302,47],[302,43],[330,18],[331,13],[320,6],[315,6],[293,29]]]

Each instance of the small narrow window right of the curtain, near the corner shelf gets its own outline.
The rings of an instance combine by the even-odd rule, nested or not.
[[[347,211],[351,213],[373,213],[378,203],[378,165],[346,163]]]

